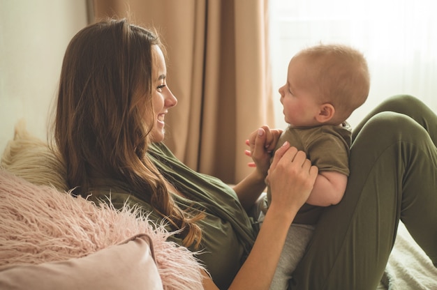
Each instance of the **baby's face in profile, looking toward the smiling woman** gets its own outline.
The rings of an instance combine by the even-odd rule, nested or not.
[[[317,102],[316,82],[311,69],[306,59],[291,59],[287,82],[279,88],[285,121],[293,127],[318,125],[316,116],[320,112],[320,104]]]

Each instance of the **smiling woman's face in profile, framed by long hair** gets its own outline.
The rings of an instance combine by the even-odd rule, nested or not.
[[[165,66],[164,54],[158,45],[152,46],[152,55],[154,57],[154,67],[152,69],[151,98],[154,105],[155,124],[153,130],[151,130],[151,141],[161,142],[165,136],[164,116],[168,113],[170,107],[177,104],[177,98],[173,96],[165,82],[167,67]]]

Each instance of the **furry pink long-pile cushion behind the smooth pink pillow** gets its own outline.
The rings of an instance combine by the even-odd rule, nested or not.
[[[202,289],[204,269],[172,233],[123,208],[96,206],[81,197],[34,185],[0,169],[0,270],[84,257],[136,234],[151,236],[164,289]],[[117,261],[114,261],[117,263]]]

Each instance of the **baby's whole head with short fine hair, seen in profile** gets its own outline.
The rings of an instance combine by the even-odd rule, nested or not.
[[[316,45],[292,57],[287,84],[279,92],[291,125],[339,125],[365,102],[369,88],[361,52],[346,45]]]

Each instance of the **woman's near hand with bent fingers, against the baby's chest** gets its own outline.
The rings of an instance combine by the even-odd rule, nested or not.
[[[311,165],[303,151],[290,147],[286,142],[276,150],[266,183],[272,192],[275,210],[297,211],[308,199],[318,175],[318,168]]]

